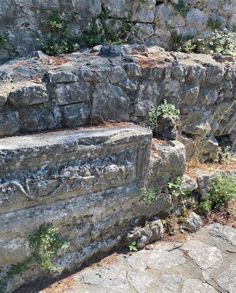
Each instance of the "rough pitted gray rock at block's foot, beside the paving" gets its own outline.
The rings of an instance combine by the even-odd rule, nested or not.
[[[128,234],[127,240],[131,243],[136,241],[138,248],[143,248],[148,243],[161,240],[164,235],[164,227],[161,220],[152,220],[146,222],[143,228],[138,227]]]

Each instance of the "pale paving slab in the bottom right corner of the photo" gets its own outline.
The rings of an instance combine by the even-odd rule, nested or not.
[[[229,293],[236,291],[236,262],[230,265],[229,270],[216,278],[218,285]]]

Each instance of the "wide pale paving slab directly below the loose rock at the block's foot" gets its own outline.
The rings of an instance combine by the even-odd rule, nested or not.
[[[186,259],[180,250],[166,251],[161,245],[157,245],[151,251],[141,250],[127,257],[127,261],[134,269],[144,271],[151,269],[167,269],[185,263]]]

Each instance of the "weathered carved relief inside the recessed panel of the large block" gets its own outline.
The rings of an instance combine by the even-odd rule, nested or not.
[[[133,180],[133,151],[14,171],[0,184],[0,211],[98,192]]]

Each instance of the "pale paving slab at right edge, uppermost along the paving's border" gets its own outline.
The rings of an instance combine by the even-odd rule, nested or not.
[[[229,242],[232,245],[236,246],[236,229],[223,226],[220,223],[214,223],[206,227],[209,233],[217,238],[222,238],[223,240]]]

